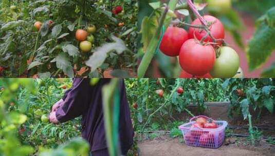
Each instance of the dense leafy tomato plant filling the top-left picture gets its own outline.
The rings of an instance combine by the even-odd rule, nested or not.
[[[1,14],[5,14],[0,17],[0,65],[6,69],[1,76],[135,75],[137,1],[0,3]],[[10,9],[12,5],[15,10]],[[112,15],[113,6],[121,6],[125,13]],[[87,33],[95,40],[91,53],[82,53],[78,41],[91,39]],[[83,68],[87,72],[79,72]]]

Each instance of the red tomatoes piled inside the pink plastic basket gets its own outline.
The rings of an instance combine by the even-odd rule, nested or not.
[[[209,146],[214,145],[214,133],[211,131],[201,130],[201,128],[217,128],[217,124],[213,120],[207,121],[203,117],[199,117],[191,126],[191,130],[185,134],[185,141],[189,145]]]

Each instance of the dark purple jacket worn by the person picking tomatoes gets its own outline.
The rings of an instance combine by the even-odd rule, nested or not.
[[[59,122],[66,122],[82,115],[82,137],[90,143],[91,151],[107,148],[101,90],[103,85],[110,81],[110,79],[100,79],[95,86],[91,86],[90,79],[74,79],[72,87],[63,97],[63,107],[56,112]],[[121,101],[119,135],[123,151],[132,146],[134,130],[124,82],[121,82],[119,87]]]

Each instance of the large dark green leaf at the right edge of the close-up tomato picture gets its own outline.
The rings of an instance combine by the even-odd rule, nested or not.
[[[261,24],[248,43],[247,57],[249,70],[265,63],[275,49],[275,28]]]

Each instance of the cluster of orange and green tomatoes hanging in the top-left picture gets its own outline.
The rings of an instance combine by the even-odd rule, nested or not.
[[[80,42],[80,49],[82,52],[89,52],[92,44],[95,41],[94,33],[96,32],[96,26],[90,25],[86,30],[78,29],[76,31],[76,39]]]

